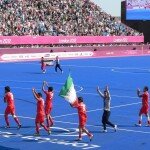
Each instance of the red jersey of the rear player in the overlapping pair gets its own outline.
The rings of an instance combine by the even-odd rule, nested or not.
[[[45,106],[47,108],[51,108],[54,93],[53,92],[48,92],[48,91],[44,91],[44,93],[46,94]]]

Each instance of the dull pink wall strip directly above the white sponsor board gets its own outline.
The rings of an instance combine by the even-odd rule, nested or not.
[[[49,48],[1,48],[0,54],[13,54],[13,53],[44,53],[50,52],[70,52],[70,51],[93,51],[99,50],[133,50],[133,49],[149,49],[149,45],[128,45],[128,46],[85,46],[85,47],[49,47]]]

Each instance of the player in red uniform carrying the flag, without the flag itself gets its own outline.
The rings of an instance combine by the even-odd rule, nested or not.
[[[93,134],[91,134],[86,128],[86,121],[87,121],[87,115],[86,115],[86,105],[83,103],[83,98],[78,97],[78,103],[75,105],[71,105],[74,108],[77,108],[78,110],[78,116],[79,116],[79,138],[77,139],[78,141],[82,140],[82,133],[85,132],[89,138],[90,141],[93,138]]]

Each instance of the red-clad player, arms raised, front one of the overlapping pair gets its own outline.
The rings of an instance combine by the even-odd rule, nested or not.
[[[32,89],[33,95],[37,101],[37,114],[35,119],[35,125],[36,125],[36,133],[35,136],[39,136],[39,128],[40,125],[50,134],[50,130],[45,126],[44,119],[45,119],[45,112],[44,112],[44,100],[42,98],[41,93],[37,93],[36,90]]]

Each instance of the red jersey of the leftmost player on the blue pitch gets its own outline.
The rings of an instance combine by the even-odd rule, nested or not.
[[[4,100],[7,103],[8,107],[14,107],[14,96],[11,92],[7,92],[4,96]]]

